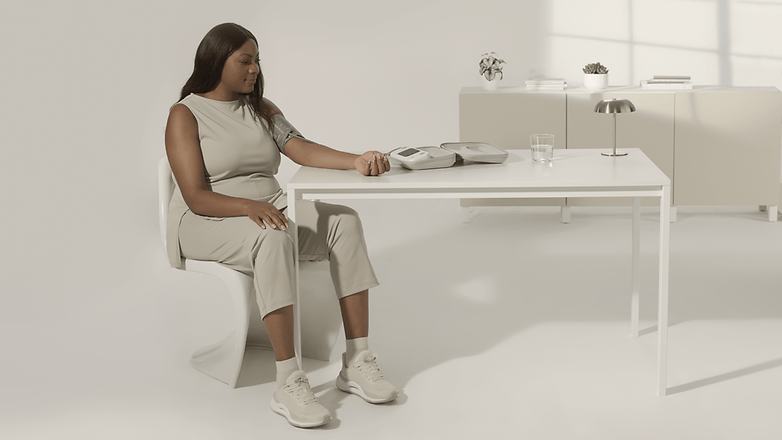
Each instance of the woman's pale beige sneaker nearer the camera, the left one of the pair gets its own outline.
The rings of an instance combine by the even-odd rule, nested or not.
[[[299,428],[314,428],[331,420],[331,412],[318,403],[315,393],[303,371],[294,371],[285,381],[285,386],[274,392],[272,411],[285,416],[291,425]]]

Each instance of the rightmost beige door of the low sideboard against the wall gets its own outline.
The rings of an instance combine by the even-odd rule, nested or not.
[[[676,94],[677,205],[776,205],[782,93]]]

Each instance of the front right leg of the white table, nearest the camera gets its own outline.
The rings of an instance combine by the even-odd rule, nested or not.
[[[667,393],[668,374],[668,263],[670,252],[671,187],[664,186],[660,197],[660,270],[657,311],[657,395]]]

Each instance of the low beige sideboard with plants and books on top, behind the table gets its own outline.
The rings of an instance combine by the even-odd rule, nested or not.
[[[552,92],[465,87],[459,94],[459,137],[518,149],[529,148],[530,134],[551,133],[555,150],[610,149],[612,116],[594,112],[598,101],[610,98],[629,99],[636,107],[617,115],[617,148],[640,148],[671,179],[672,205],[782,207],[782,92],[775,87]],[[462,206],[595,203],[462,200]],[[769,219],[776,220],[776,212]]]

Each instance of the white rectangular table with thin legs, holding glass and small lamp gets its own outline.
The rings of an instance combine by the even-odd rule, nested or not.
[[[625,149],[623,151],[629,154],[622,157],[602,156],[600,153],[603,151],[607,150],[555,150],[554,160],[550,164],[541,164],[530,159],[529,150],[511,150],[508,151],[508,159],[502,164],[457,164],[450,168],[425,171],[410,171],[395,167],[381,176],[374,177],[362,176],[356,171],[302,167],[288,182],[288,215],[295,224],[296,201],[305,198],[632,197],[631,332],[637,337],[640,294],[640,198],[659,197],[657,394],[665,395],[671,181],[639,149]],[[294,237],[297,237],[295,233]],[[298,279],[298,260],[296,276]],[[296,295],[295,343],[301,365],[298,291]]]

